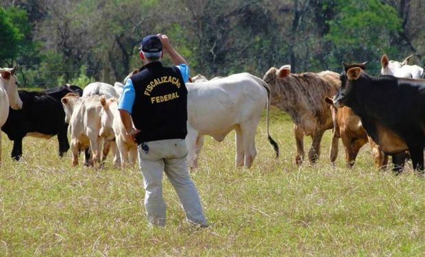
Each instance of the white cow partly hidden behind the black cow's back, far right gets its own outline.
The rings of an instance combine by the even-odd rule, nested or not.
[[[381,75],[393,75],[394,77],[411,77],[413,79],[425,78],[424,69],[417,65],[407,65],[413,55],[407,56],[403,62],[389,60],[385,54],[380,58]]]

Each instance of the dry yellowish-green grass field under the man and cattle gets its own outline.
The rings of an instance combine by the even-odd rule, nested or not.
[[[234,168],[234,134],[206,138],[191,173],[206,229],[184,222],[168,180],[167,225],[149,228],[136,167],[108,158],[105,169],[73,168],[56,137],[25,138],[24,160],[12,162],[3,134],[0,256],[425,256],[425,180],[411,164],[399,176],[378,171],[366,145],[347,169],[340,142],[331,167],[326,132],[319,162],[297,167],[292,127],[272,111],[276,160],[261,121],[252,169]]]

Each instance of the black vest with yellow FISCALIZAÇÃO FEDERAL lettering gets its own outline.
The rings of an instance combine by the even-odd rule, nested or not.
[[[136,98],[132,108],[138,144],[153,140],[185,138],[187,89],[177,67],[151,62],[131,77]]]

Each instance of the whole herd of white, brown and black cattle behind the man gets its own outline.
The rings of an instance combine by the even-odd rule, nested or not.
[[[255,134],[267,108],[267,136],[276,156],[279,149],[269,134],[269,106],[287,112],[295,123],[295,162],[304,160],[304,136],[311,136],[308,160],[320,155],[321,138],[332,129],[330,162],[335,162],[342,139],[348,166],[354,165],[359,149],[369,142],[376,167],[386,167],[392,157],[400,172],[406,158],[424,169],[425,73],[417,65],[381,58],[381,76],[365,72],[365,63],[345,64],[341,74],[291,73],[291,66],[271,67],[260,79],[249,73],[206,79],[191,78],[188,88],[188,163],[197,167],[204,135],[223,140],[236,132],[236,166],[251,167],[256,157]],[[60,86],[42,92],[17,90],[16,69],[0,69],[0,126],[13,140],[12,158],[23,155],[25,136],[51,138],[58,135],[59,154],[70,148],[72,164],[84,151],[84,163],[99,165],[111,150],[114,164],[134,164],[137,146],[128,142],[117,102],[123,84],[95,82],[82,90]],[[133,71],[125,79],[128,79]],[[124,81],[125,82],[125,81]],[[102,151],[103,149],[103,151]],[[1,161],[1,136],[0,136]]]

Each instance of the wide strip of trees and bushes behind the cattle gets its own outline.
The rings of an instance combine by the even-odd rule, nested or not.
[[[422,0],[3,0],[0,66],[19,64],[25,87],[122,81],[141,66],[138,42],[165,33],[193,75],[270,66],[341,70],[387,53],[424,64]]]

